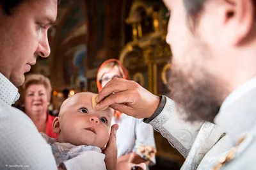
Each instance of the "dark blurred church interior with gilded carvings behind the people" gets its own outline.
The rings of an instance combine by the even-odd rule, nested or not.
[[[111,58],[154,95],[168,95],[167,12],[159,0],[61,0],[49,29],[51,55],[38,58],[29,72],[51,80],[49,111],[57,115],[63,100],[77,92],[97,93],[97,71]],[[157,163],[150,169],[179,169],[184,157],[159,132],[154,137]]]

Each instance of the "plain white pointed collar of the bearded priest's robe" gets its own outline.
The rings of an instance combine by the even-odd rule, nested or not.
[[[234,144],[255,124],[256,114],[253,112],[255,97],[256,77],[253,77],[228,95],[214,119],[214,123],[220,125],[230,135]]]

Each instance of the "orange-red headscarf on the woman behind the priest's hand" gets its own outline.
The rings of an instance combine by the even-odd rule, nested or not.
[[[100,83],[100,79],[102,77],[100,77],[99,73],[100,73],[100,70],[102,70],[102,68],[104,68],[104,66],[108,63],[116,63],[117,65],[119,65],[119,69],[122,69],[122,78],[125,79],[125,80],[129,80],[130,79],[130,76],[129,76],[129,73],[128,73],[128,70],[124,67],[124,65],[122,65],[122,63],[118,60],[118,59],[108,59],[107,61],[104,61],[104,63],[102,63],[102,65],[100,65],[100,68],[98,70],[98,73],[97,73],[97,88],[98,88],[98,91],[100,92],[102,90],[102,86],[101,86],[101,83]],[[115,118],[120,118],[121,116],[121,112],[119,111],[114,111],[114,116]]]

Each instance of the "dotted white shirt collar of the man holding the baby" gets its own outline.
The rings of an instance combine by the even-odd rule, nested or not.
[[[14,104],[20,97],[18,88],[0,73],[0,100],[8,105]]]

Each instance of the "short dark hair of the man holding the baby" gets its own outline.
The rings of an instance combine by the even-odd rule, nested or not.
[[[27,0],[0,0],[0,6],[5,14],[12,15],[13,10],[24,1]]]

